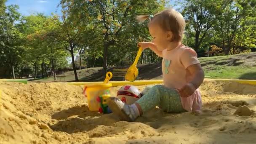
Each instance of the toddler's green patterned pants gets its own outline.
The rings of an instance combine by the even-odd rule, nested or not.
[[[144,112],[158,106],[165,112],[180,113],[187,112],[183,109],[181,99],[176,89],[167,88],[164,85],[155,85],[145,93],[138,101]]]

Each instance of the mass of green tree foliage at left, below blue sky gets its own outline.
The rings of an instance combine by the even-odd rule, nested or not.
[[[52,19],[56,17],[37,13],[20,18],[17,5],[6,7],[2,1],[0,5],[1,77],[13,77],[12,67],[19,77],[27,75],[29,71],[36,75],[39,70],[46,75],[46,70],[51,67],[50,59],[54,59],[56,68],[67,66],[67,53],[61,51],[59,45],[49,37],[45,37],[45,33],[55,27]]]

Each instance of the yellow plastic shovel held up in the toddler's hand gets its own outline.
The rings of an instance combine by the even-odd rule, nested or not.
[[[142,53],[142,48],[140,47],[133,64],[131,65],[131,67],[128,68],[125,74],[125,80],[133,82],[136,79],[136,77],[139,75],[137,63],[139,61],[139,57],[141,56],[141,53]]]

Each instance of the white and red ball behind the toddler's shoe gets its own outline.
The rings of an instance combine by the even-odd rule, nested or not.
[[[117,98],[126,104],[133,104],[141,98],[141,93],[134,85],[124,85],[117,91]]]

